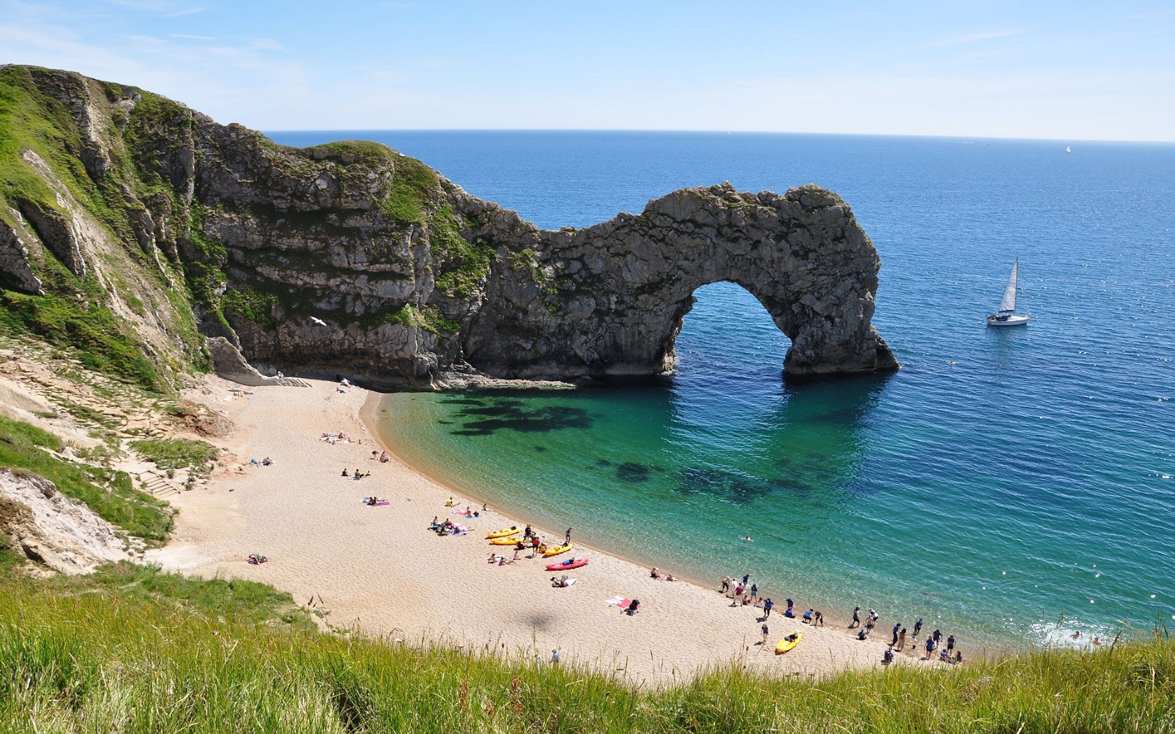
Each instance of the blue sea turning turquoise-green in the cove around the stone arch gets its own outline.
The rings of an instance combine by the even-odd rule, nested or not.
[[[271,136],[384,142],[551,229],[721,181],[839,193],[881,256],[897,373],[785,383],[787,338],[716,283],[667,385],[390,395],[387,438],[539,525],[705,584],[753,572],[830,615],[875,607],[882,627],[922,617],[996,645],[1175,627],[1175,146]],[[1016,258],[1033,321],[988,329]]]

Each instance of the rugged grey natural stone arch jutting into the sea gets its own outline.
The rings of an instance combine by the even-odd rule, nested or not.
[[[693,291],[754,295],[792,341],[788,376],[897,369],[870,323],[880,260],[839,196],[730,184],[684,189],[585,229],[525,223],[497,245],[464,356],[498,377],[634,378],[664,372]]]

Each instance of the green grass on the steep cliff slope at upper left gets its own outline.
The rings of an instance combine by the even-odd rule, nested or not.
[[[170,191],[169,183],[146,167],[141,168],[149,174],[149,181],[137,175],[132,160],[122,146],[118,144],[120,134],[115,129],[99,130],[100,134],[107,134],[113,143],[106,147],[112,167],[105,176],[92,179],[79,157],[83,143],[78,121],[66,105],[41,93],[34,81],[38,74],[47,75],[51,85],[65,85],[69,81],[68,75],[32,67],[12,66],[0,69],[0,216],[8,216],[5,213],[20,201],[32,202],[40,209],[60,211],[56,195],[21,159],[25,150],[36,153],[49,163],[53,174],[69,194],[107,230],[110,241],[121,244],[122,249],[115,260],[103,263],[107,271],[133,268],[143,281],[161,287],[159,292],[168,292],[170,285],[166,283],[166,276],[155,267],[154,260],[143,254],[134,237],[127,211],[141,209],[142,204],[127,193],[135,191],[146,196],[159,190]],[[106,89],[108,97],[121,92],[116,85],[106,85]],[[96,101],[101,101],[101,95]],[[133,116],[136,121],[159,119],[172,126],[150,139],[134,136],[141,126],[129,130],[128,143],[132,147],[139,143],[143,148],[140,157],[147,156],[157,163],[159,150],[177,124],[175,120],[186,121],[190,119],[190,113],[174,102],[145,94]],[[163,127],[164,122],[160,122],[157,127]],[[46,296],[5,292],[0,302],[0,329],[31,334],[59,346],[73,346],[76,356],[90,370],[118,376],[153,391],[167,390],[166,381],[160,376],[161,368],[167,372],[168,369],[182,370],[187,365],[169,364],[167,357],[145,350],[142,341],[134,335],[130,325],[106,307],[108,294],[93,274],[85,278],[78,277],[52,254],[45,252],[42,256],[38,248],[33,249],[33,269],[45,282]],[[118,268],[113,267],[114,262],[119,263]],[[122,281],[122,275],[128,274],[116,275]],[[125,285],[120,290],[127,295],[132,308],[140,312],[152,310],[153,304],[143,297],[146,294],[134,292],[137,284],[132,282],[129,275],[126,281],[129,288]],[[156,317],[167,321],[180,334],[187,346],[186,351],[199,358],[199,339],[194,339],[195,323],[190,308],[176,307],[174,314],[161,312]],[[156,363],[155,359],[160,362]]]

